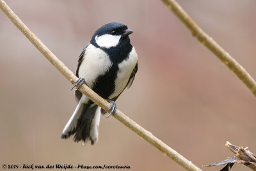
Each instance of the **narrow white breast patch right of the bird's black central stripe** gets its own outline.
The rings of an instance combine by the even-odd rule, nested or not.
[[[137,63],[138,55],[135,48],[132,47],[132,51],[130,52],[128,59],[118,64],[119,70],[115,80],[115,92],[109,96],[110,99],[115,98],[120,93],[122,93]]]

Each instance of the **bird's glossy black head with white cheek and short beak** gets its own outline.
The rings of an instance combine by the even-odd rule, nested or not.
[[[131,52],[132,45],[129,34],[132,32],[122,23],[111,22],[97,29],[90,43],[104,50],[112,58],[122,59],[124,57],[120,57],[120,55],[127,57]]]

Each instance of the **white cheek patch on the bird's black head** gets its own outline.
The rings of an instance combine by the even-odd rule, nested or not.
[[[95,41],[100,47],[110,48],[116,47],[120,40],[121,36],[114,36],[111,34],[104,34],[102,36],[96,36]]]

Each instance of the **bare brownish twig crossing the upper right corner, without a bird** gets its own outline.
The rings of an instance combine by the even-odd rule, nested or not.
[[[228,54],[216,41],[208,36],[196,23],[189,17],[188,13],[184,11],[175,0],[162,0],[167,8],[173,11],[173,13],[185,24],[200,43],[209,48],[213,54],[215,54],[223,64],[227,65],[231,71],[236,73],[237,77],[243,81],[243,83],[252,91],[256,96],[256,82],[250,76],[250,74],[241,66],[237,61]]]

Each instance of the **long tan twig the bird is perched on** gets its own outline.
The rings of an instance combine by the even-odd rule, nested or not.
[[[20,31],[35,45],[35,47],[55,66],[60,73],[66,77],[70,82],[77,80],[77,77],[72,73],[72,71],[68,70],[68,68],[56,57],[52,52],[47,48],[42,41],[40,41],[34,33],[32,33],[29,28],[13,13],[10,7],[3,1],[0,0],[0,8],[4,11],[4,13],[12,20],[13,24],[20,29]],[[86,85],[81,86],[79,88],[81,93],[85,94],[90,98],[93,102],[97,103],[104,110],[107,110],[110,106],[108,101],[102,99],[98,94],[92,91]],[[125,124],[132,131],[140,135],[140,137],[144,138],[150,144],[154,145],[159,151],[163,152],[166,156],[172,158],[173,161],[177,162],[182,167],[186,168],[186,170],[200,170],[200,168],[196,167],[191,161],[188,161],[186,158],[181,156],[178,152],[174,151],[171,147],[164,144],[161,140],[156,138],[152,133],[142,128],[139,124],[135,123],[124,115],[120,110],[116,110],[115,115],[113,115],[118,121]]]

